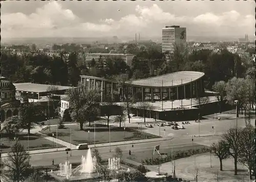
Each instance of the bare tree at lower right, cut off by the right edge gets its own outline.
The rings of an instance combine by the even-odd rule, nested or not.
[[[248,167],[250,179],[252,179],[251,170],[255,171],[255,128],[247,125],[241,130],[239,135],[239,154],[238,161]]]

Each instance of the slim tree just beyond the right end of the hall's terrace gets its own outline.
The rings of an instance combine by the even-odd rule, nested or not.
[[[214,90],[215,92],[218,92],[218,95],[216,97],[218,99],[220,113],[221,113],[223,99],[226,96],[226,83],[224,81],[215,82],[215,84],[212,86],[212,90]]]

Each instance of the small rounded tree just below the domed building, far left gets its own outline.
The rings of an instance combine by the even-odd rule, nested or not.
[[[5,120],[3,123],[3,129],[8,134],[9,138],[13,137],[13,134],[19,132],[20,118],[19,116],[12,116]]]

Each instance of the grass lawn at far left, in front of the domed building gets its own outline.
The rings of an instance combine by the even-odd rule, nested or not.
[[[30,134],[28,137],[26,133],[24,134],[19,133],[19,134],[16,134],[16,138],[18,138],[20,143],[24,145],[25,149],[28,149],[28,144],[29,144],[29,150],[47,149],[47,148],[53,148],[53,146],[56,148],[55,142],[53,143],[53,141],[46,140],[39,135]],[[29,139],[29,143],[28,143],[28,139]],[[13,137],[9,138],[5,133],[1,134],[1,149],[3,153],[11,151],[11,145],[13,143],[13,140],[14,140]],[[58,147],[65,147],[65,146],[58,144]]]

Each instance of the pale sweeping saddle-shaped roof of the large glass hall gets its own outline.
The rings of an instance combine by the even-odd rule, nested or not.
[[[168,74],[163,74],[147,79],[133,80],[129,84],[143,87],[172,87],[185,85],[194,82],[204,76],[203,72],[197,71],[179,71]]]

